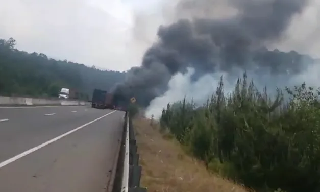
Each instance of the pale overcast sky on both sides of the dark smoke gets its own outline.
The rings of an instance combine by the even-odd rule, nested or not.
[[[140,65],[155,38],[160,1],[166,0],[0,0],[0,38],[13,37],[18,49],[55,59],[127,70]],[[149,15],[135,14],[146,10]],[[275,47],[320,57],[319,12],[320,0],[311,0]]]

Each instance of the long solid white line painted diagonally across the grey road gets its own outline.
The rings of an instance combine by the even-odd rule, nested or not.
[[[22,157],[24,157],[24,156],[26,156],[26,155],[29,155],[29,154],[31,154],[31,153],[33,153],[33,152],[35,152],[35,151],[37,151],[37,150],[39,150],[39,149],[47,146],[47,145],[49,145],[49,144],[51,144],[51,143],[53,143],[53,142],[55,142],[55,141],[57,141],[57,140],[65,137],[65,136],[67,136],[67,135],[75,132],[75,131],[78,131],[79,129],[82,129],[82,128],[86,127],[87,125],[90,125],[90,124],[92,124],[93,122],[96,122],[96,121],[98,121],[98,120],[100,120],[100,119],[102,119],[102,118],[104,118],[104,117],[106,117],[106,116],[108,116],[108,115],[110,115],[111,113],[114,113],[114,112],[116,112],[116,111],[112,111],[112,112],[110,112],[110,113],[107,113],[107,114],[105,114],[105,115],[103,115],[103,116],[101,116],[101,117],[99,117],[99,118],[94,119],[94,120],[91,121],[91,122],[88,122],[88,123],[86,123],[86,124],[84,124],[84,125],[82,125],[82,126],[80,126],[80,127],[77,127],[76,129],[73,129],[73,130],[71,130],[71,131],[68,131],[68,132],[66,132],[66,133],[64,133],[64,134],[62,134],[62,135],[60,135],[60,136],[57,136],[57,137],[55,137],[55,138],[53,138],[53,139],[51,139],[51,140],[48,140],[48,141],[42,143],[41,145],[39,145],[39,146],[37,146],[37,147],[34,147],[34,148],[32,148],[32,149],[29,149],[29,150],[27,150],[27,151],[25,151],[25,152],[20,153],[19,155],[16,155],[16,156],[14,156],[14,157],[12,157],[12,158],[10,158],[10,159],[8,159],[8,160],[3,161],[3,162],[0,163],[0,169],[1,169],[2,167],[6,166],[6,165],[8,165],[8,164],[10,164],[10,163],[18,160],[18,159],[21,159]]]

